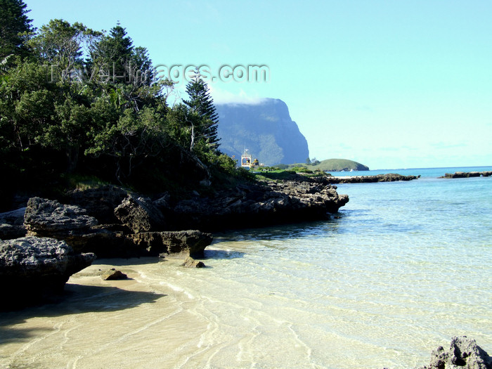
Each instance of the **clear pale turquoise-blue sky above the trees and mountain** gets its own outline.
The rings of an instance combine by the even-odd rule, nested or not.
[[[119,21],[160,75],[182,66],[172,70],[174,101],[188,65],[205,68],[216,103],[280,98],[311,158],[370,169],[492,165],[492,1],[25,4],[35,27]],[[268,79],[249,81],[248,66],[264,66]]]

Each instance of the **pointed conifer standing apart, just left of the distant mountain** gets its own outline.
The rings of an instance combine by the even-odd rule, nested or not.
[[[217,115],[214,99],[210,96],[209,87],[198,73],[186,85],[186,93],[190,100],[184,101],[190,109],[191,115],[198,115],[200,119],[190,119],[192,124],[192,145],[198,140],[205,141],[208,148],[214,150],[219,147],[220,138],[217,136],[217,125],[219,124],[219,115]]]

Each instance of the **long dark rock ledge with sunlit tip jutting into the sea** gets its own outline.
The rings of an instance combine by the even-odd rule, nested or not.
[[[297,176],[292,181],[241,185],[207,197],[179,201],[175,226],[219,231],[327,219],[349,201],[328,181]]]

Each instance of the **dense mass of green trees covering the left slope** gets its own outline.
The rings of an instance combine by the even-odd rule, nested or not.
[[[119,23],[103,32],[53,19],[33,30],[21,0],[0,4],[4,173],[129,184],[191,183],[181,173],[188,164],[201,176],[233,173],[233,160],[218,150],[218,116],[200,75],[187,86],[188,100],[170,107],[173,83],[155,77],[147,49]]]

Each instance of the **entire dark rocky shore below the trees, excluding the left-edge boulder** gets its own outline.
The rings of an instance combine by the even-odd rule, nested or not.
[[[98,257],[200,258],[212,242],[212,235],[201,231],[327,219],[349,201],[347,195],[337,194],[327,177],[295,174],[289,181],[243,183],[220,193],[207,190],[205,196],[193,191],[184,200],[166,193],[157,200],[130,193],[115,205],[126,190],[88,191],[87,198],[82,190],[67,198],[76,198],[99,219],[116,223],[99,224],[79,205],[31,198],[24,216],[28,235],[64,240],[75,252],[93,252]],[[114,218],[109,216],[112,206]],[[183,231],[190,229],[201,231]]]

